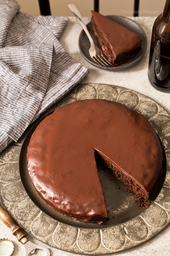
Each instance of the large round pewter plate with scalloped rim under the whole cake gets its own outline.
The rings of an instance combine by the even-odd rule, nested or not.
[[[152,193],[150,206],[139,208],[122,184],[99,168],[109,210],[107,222],[81,222],[48,207],[35,192],[27,171],[27,145],[40,120],[28,127],[18,143],[10,144],[0,154],[0,196],[16,222],[31,236],[61,250],[98,255],[139,245],[170,222],[170,115],[158,103],[135,91],[108,84],[80,84],[41,119],[60,106],[92,98],[117,101],[141,113],[165,146],[163,175]]]

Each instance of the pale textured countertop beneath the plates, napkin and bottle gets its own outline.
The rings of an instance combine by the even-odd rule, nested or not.
[[[80,54],[78,48],[78,38],[81,32],[81,27],[76,21],[75,17],[68,17],[68,24],[60,38],[61,44],[64,46],[66,51],[77,61],[80,62],[85,67],[88,67],[90,70],[89,75],[82,80],[81,83],[103,83],[103,84],[112,84],[117,86],[122,86],[125,88],[129,88],[131,90],[135,90],[141,94],[144,94],[155,100],[158,104],[160,104],[165,110],[170,113],[170,94],[157,91],[154,89],[149,81],[147,76],[148,69],[148,58],[149,58],[149,49],[150,49],[150,38],[152,32],[152,25],[156,17],[131,17],[131,19],[135,20],[145,31],[148,46],[146,52],[142,59],[135,66],[124,70],[124,71],[106,71],[102,69],[98,69],[88,63]],[[87,23],[90,21],[90,18],[84,18]],[[27,236],[30,241],[33,243],[37,243],[40,245],[44,245],[40,241],[32,238],[31,236]],[[14,252],[13,256],[22,256],[24,255],[24,249],[22,244],[17,241],[17,239],[12,236],[11,231],[0,221],[0,239],[7,238],[10,239],[14,243]],[[78,256],[80,254],[69,253],[65,251],[61,251],[48,245],[44,245],[50,249],[52,256]],[[146,241],[145,243],[128,249],[126,251],[121,251],[114,254],[109,255],[170,255],[170,226],[167,225],[162,231],[160,231],[156,236]],[[44,252],[38,251],[36,255],[45,255]],[[82,255],[82,254],[81,254]]]

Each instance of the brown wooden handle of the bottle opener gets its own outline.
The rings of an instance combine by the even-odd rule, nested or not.
[[[8,228],[10,228],[10,230],[12,231],[12,235],[16,236],[19,242],[22,242],[21,240],[26,237],[26,234],[22,232],[21,227],[16,225],[12,216],[1,205],[0,205],[0,219]]]

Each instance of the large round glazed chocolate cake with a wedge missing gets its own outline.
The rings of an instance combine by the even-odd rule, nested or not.
[[[78,220],[106,220],[96,160],[140,206],[162,174],[162,147],[150,123],[117,102],[78,100],[46,116],[27,147],[28,171],[52,209]],[[98,162],[98,161],[97,161]]]

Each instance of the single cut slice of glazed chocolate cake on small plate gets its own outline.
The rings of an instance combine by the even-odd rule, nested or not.
[[[94,34],[113,66],[131,59],[139,52],[142,44],[140,36],[100,13],[91,12]]]

